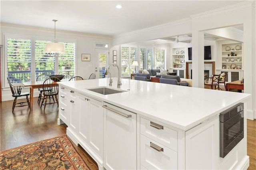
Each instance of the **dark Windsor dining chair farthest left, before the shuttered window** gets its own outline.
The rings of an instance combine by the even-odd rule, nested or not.
[[[8,80],[8,83],[10,85],[10,88],[11,88],[11,91],[12,91],[12,97],[14,97],[14,101],[13,101],[13,104],[12,104],[12,112],[14,111],[14,108],[15,107],[24,107],[24,106],[28,106],[29,109],[30,108],[30,102],[29,102],[29,99],[28,99],[28,96],[30,95],[29,92],[25,92],[25,93],[22,93],[22,88],[24,86],[21,85],[21,83],[17,83],[17,85],[12,85],[10,79],[7,77],[7,80]],[[25,102],[20,102],[20,103],[16,103],[17,102],[17,98],[18,97],[23,97],[23,96],[26,96],[26,100]],[[23,103],[28,103],[27,105],[23,105]],[[17,105],[17,106],[16,106]]]

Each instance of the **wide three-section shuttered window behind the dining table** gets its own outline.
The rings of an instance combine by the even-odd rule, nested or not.
[[[17,37],[17,38],[16,38]],[[6,35],[6,73],[12,82],[35,81],[40,74],[70,73],[75,75],[76,44],[64,43],[65,52],[58,56],[48,56],[46,43],[50,41],[36,38]],[[5,87],[8,87],[7,81]]]

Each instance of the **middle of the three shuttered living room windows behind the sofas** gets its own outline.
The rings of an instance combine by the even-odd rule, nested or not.
[[[153,69],[152,48],[140,48],[140,69]]]

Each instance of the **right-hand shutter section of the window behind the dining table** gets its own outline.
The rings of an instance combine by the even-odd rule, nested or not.
[[[59,74],[68,73],[71,77],[76,76],[76,43],[59,42],[64,44],[65,52],[58,56]]]

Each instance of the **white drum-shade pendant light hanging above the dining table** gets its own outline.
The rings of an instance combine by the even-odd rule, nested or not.
[[[64,52],[64,45],[63,43],[56,43],[56,21],[54,21],[54,43],[46,43],[45,52],[48,55],[59,55],[59,53]]]

